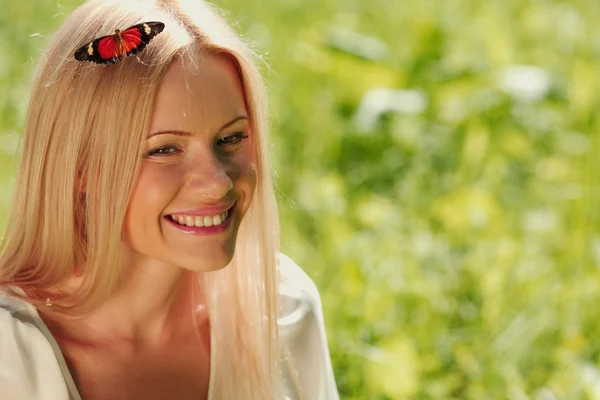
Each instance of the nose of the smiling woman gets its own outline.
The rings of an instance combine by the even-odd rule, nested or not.
[[[194,194],[207,200],[220,200],[231,189],[233,181],[227,165],[214,152],[203,152],[190,160],[186,186]]]

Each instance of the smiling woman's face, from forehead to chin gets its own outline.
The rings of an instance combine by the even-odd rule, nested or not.
[[[234,66],[195,63],[173,63],[159,88],[124,238],[140,261],[201,272],[231,261],[256,168]]]

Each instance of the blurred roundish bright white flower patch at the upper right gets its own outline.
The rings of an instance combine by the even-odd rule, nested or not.
[[[540,101],[550,90],[550,72],[533,65],[513,65],[501,71],[498,86],[515,100]]]

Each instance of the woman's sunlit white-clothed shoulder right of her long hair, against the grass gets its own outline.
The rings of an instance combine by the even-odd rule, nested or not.
[[[302,393],[307,400],[337,400],[319,290],[284,254],[279,256],[279,276],[278,325],[286,391]]]

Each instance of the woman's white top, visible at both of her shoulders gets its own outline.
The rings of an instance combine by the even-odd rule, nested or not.
[[[293,390],[284,362],[286,400],[339,400],[321,297],[290,258],[280,256],[279,327],[304,392]],[[287,357],[286,357],[287,356]],[[60,348],[32,305],[0,295],[0,399],[81,400]],[[213,399],[209,399],[213,400]]]

